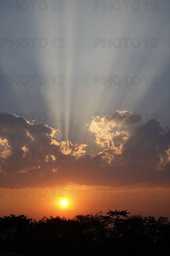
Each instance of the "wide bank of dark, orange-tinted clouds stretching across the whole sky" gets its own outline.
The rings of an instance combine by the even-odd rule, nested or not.
[[[92,154],[86,144],[60,141],[48,125],[14,114],[1,118],[1,186],[168,185],[169,131],[154,120],[135,122],[126,110],[115,113],[121,121],[88,124],[96,138]]]

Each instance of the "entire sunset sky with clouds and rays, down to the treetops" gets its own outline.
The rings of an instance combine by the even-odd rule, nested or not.
[[[125,2],[1,1],[1,216],[170,216],[170,2]]]

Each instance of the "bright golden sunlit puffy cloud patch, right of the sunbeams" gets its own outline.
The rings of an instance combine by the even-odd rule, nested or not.
[[[117,110],[110,116],[95,117],[88,127],[89,131],[95,134],[97,145],[105,149],[122,150],[132,128],[140,123],[141,116],[135,119],[131,118],[132,115],[133,113],[126,110]]]

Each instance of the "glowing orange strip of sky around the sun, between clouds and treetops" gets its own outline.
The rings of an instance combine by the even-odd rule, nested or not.
[[[115,188],[110,187],[111,194],[106,192],[109,191],[109,187],[98,187],[96,189],[82,186],[78,189],[70,186],[57,189],[59,187],[55,188],[56,196],[53,194],[54,188],[34,189],[34,196],[32,196],[33,189],[18,189],[19,196],[16,196],[16,193],[12,193],[14,189],[11,192],[10,190],[7,192],[6,189],[1,189],[0,214],[1,216],[25,214],[35,219],[51,215],[72,218],[79,214],[95,214],[100,211],[106,214],[109,210],[127,209],[131,215],[142,214],[144,216],[169,217],[168,202],[170,193],[168,188],[158,187],[151,190],[151,188],[146,189],[145,187],[129,187],[128,189],[127,187],[126,189],[120,187],[115,190]],[[94,196],[95,191],[97,191],[96,196]],[[105,193],[103,194],[102,191],[105,191]],[[118,191],[122,193],[120,196],[117,196]],[[139,192],[140,195],[135,196]],[[27,196],[25,197],[26,193]],[[47,195],[41,196],[44,193],[47,193]],[[64,195],[64,197],[60,195]],[[62,207],[60,204],[63,199],[68,202],[66,207]]]

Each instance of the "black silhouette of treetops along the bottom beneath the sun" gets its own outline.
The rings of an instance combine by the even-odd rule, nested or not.
[[[168,256],[170,222],[166,217],[77,215],[39,221],[25,215],[0,217],[0,255],[23,256]]]

